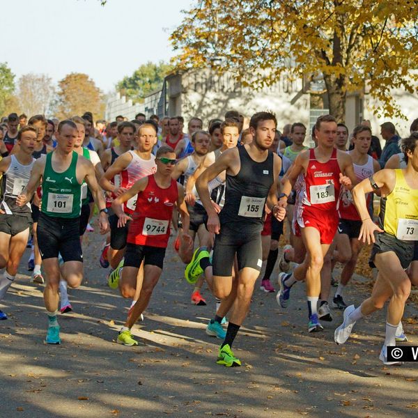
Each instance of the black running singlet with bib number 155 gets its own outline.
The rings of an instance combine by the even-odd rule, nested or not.
[[[261,232],[265,201],[274,182],[274,155],[269,151],[265,161],[256,162],[245,146],[238,147],[238,153],[240,171],[236,176],[226,174],[225,203],[219,221],[237,231],[254,226],[251,232]]]

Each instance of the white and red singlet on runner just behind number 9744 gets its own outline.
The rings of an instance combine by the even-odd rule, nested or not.
[[[143,160],[135,151],[130,150],[127,152],[132,155],[132,161],[125,170],[121,171],[121,187],[130,189],[141,178],[154,174],[157,171],[157,165],[155,164],[155,156],[152,154],[150,154],[149,160]],[[123,203],[124,212],[132,214],[136,204],[137,196],[134,196]]]

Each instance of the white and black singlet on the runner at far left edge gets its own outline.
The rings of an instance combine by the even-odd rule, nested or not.
[[[1,195],[3,201],[0,203],[1,209],[6,215],[31,215],[31,203],[24,206],[16,204],[16,198],[22,192],[31,178],[31,171],[34,158],[28,165],[20,164],[15,155],[10,155],[10,165],[1,179]]]

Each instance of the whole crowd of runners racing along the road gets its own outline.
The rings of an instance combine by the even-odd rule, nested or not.
[[[104,137],[93,129],[88,112],[56,126],[36,115],[20,130],[17,115],[10,116],[7,141],[0,141],[0,300],[15,279],[32,233],[33,281],[44,282],[41,263],[46,279],[46,343],[61,343],[57,314],[59,308],[62,313],[72,310],[67,285],[82,283],[82,235],[94,206],[100,233],[107,234],[100,265],[109,268],[109,286],[132,300],[118,343],[139,343],[131,330],[143,318],[162,274],[172,225],[185,279],[194,284],[192,303],[206,304],[201,294],[205,282],[215,299],[206,333],[223,340],[217,363],[240,366],[233,341],[249,311],[263,261],[260,288],[275,292],[270,277],[286,214],[290,245],[279,262],[279,305],[286,309],[293,285],[305,281],[308,331],[323,330],[320,321],[332,321],[328,301],[339,262],[343,270],[332,304],[345,310],[336,343],[344,343],[355,322],[387,300],[380,359],[389,364],[387,346],[405,341],[403,308],[411,283],[418,282],[414,123],[398,160],[387,156],[389,168],[380,170],[382,163],[371,156],[369,125],[355,127],[346,150],[348,128],[330,115],[316,121],[314,148],[304,146],[302,123],[293,123],[288,137],[280,137],[274,114],[265,111],[251,116],[245,131],[242,117],[229,111],[223,120],[210,121],[208,131],[200,118],[190,119],[187,133],[183,118],[146,120],[139,114],[132,122],[108,124]],[[373,193],[380,196],[378,225],[373,222]],[[378,268],[378,278],[368,300],[347,307],[344,289],[362,242],[373,242],[371,265]],[[291,262],[295,267],[289,272]],[[0,319],[6,318],[0,311]]]

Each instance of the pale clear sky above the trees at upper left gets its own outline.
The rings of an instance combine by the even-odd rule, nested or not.
[[[13,0],[1,2],[0,63],[17,78],[54,82],[84,72],[104,92],[148,61],[169,61],[169,35],[193,0]]]

